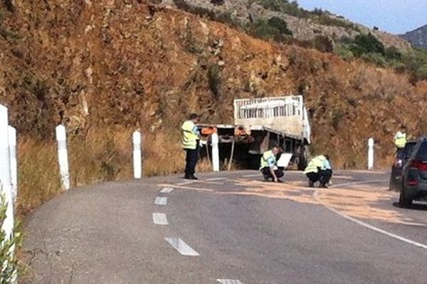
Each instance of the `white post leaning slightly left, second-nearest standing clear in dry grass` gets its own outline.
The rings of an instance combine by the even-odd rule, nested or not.
[[[69,190],[70,172],[68,170],[67,133],[65,131],[65,126],[56,126],[56,141],[58,141],[60,183],[64,190]]]

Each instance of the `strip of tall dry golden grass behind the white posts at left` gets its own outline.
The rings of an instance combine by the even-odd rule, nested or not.
[[[132,178],[132,131],[117,128],[69,135],[68,157],[72,187]],[[18,212],[26,214],[61,192],[56,141],[19,139]],[[171,175],[184,169],[185,153],[179,133],[143,136],[144,176]],[[211,170],[201,160],[197,171]]]

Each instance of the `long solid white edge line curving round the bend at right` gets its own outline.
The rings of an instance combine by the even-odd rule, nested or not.
[[[368,180],[366,182],[347,182],[347,183],[343,183],[341,185],[335,185],[334,187],[343,186],[343,185],[355,185],[355,184],[359,185],[359,184],[371,183],[371,182],[384,182],[384,180],[370,180],[370,181]],[[319,201],[322,204],[322,202],[321,202],[321,200],[319,198],[319,192],[317,190],[313,193],[313,198],[315,198],[315,200]],[[358,219],[355,219],[353,217],[349,217],[348,215],[346,215],[346,214],[344,214],[342,212],[339,212],[337,209],[334,209],[334,208],[332,208],[332,207],[330,207],[330,206],[328,206],[326,204],[322,204],[322,205],[325,206],[325,208],[329,209],[330,211],[334,212],[335,214],[338,214],[339,216],[343,217],[344,219],[347,219],[347,220],[349,220],[351,222],[359,224],[360,226],[364,226],[367,229],[371,229],[372,231],[376,231],[376,232],[378,232],[380,234],[384,234],[384,235],[389,236],[391,238],[398,239],[399,241],[404,241],[406,244],[411,244],[413,246],[418,246],[421,249],[427,249],[427,245],[426,244],[421,244],[421,243],[418,243],[417,241],[412,241],[411,239],[406,239],[403,236],[399,236],[399,235],[393,234],[393,233],[391,233],[389,231],[386,231],[386,230],[383,230],[383,229],[379,229],[376,226],[372,226],[370,224],[367,224],[367,223],[365,223],[363,221],[360,221]]]

